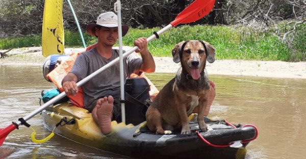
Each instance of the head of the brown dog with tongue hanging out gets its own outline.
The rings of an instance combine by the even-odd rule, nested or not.
[[[206,60],[210,63],[215,61],[215,49],[208,42],[200,40],[182,41],[174,46],[172,56],[174,62],[181,61],[183,69],[197,80]]]

